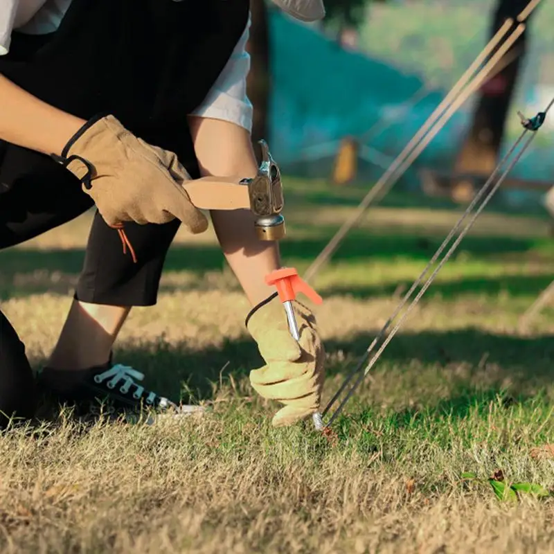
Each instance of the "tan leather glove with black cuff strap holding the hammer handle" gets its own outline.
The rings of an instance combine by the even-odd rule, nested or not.
[[[175,153],[145,143],[114,116],[91,119],[53,158],[78,177],[109,226],[177,217],[190,233],[208,229],[183,188],[190,175]]]

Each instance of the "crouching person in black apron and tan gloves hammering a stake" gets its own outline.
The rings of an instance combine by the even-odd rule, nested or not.
[[[315,21],[322,0],[274,0]],[[157,301],[163,262],[182,224],[208,227],[184,181],[253,177],[246,94],[249,0],[2,0],[0,5],[0,248],[20,244],[96,204],[71,310],[38,387],[25,346],[0,312],[0,411],[30,418],[39,391],[88,409],[188,413],[114,364],[132,306]],[[212,211],[215,233],[252,310],[246,325],[266,366],[260,395],[285,406],[274,425],[319,408],[323,346],[297,303],[301,347],[265,284],[278,247],[260,242],[249,211]],[[123,243],[123,244],[122,244]],[[186,317],[186,314],[183,314]]]

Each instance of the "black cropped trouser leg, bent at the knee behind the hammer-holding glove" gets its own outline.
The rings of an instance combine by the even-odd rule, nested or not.
[[[40,166],[44,163],[44,170]],[[27,176],[4,188],[12,172]],[[0,141],[0,249],[12,247],[69,222],[93,208],[77,179],[46,156]],[[179,229],[170,223],[125,224],[136,253],[123,253],[118,232],[97,212],[93,217],[84,267],[75,298],[96,304],[150,306],[157,301],[159,280],[170,244]]]

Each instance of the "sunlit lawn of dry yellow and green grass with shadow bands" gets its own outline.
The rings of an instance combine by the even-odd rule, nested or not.
[[[285,186],[283,258],[303,271],[365,191]],[[314,281],[325,399],[458,213],[391,196]],[[37,367],[69,308],[89,222],[0,253],[2,308]],[[553,254],[546,220],[483,214],[328,439],[310,422],[270,427],[276,406],[247,378],[261,364],[247,303],[213,233],[179,234],[158,305],[131,313],[116,359],[161,393],[213,402],[213,413],[92,427],[62,413],[3,434],[0,551],[553,552],[554,497],[499,501],[487,481],[502,472],[503,483],[554,490],[554,310],[518,328],[554,278]]]

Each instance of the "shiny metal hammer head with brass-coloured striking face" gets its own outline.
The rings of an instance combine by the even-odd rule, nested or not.
[[[256,215],[256,233],[260,240],[280,240],[285,236],[285,218],[283,210],[283,184],[281,172],[271,157],[265,141],[260,141],[262,162],[258,175],[246,179],[248,185],[250,208]]]

